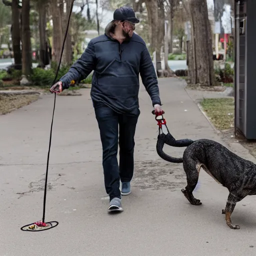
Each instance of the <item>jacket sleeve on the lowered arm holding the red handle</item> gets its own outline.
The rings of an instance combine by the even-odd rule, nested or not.
[[[145,89],[151,98],[152,105],[161,105],[156,73],[154,70],[152,59],[146,46],[144,46],[141,52],[139,72],[142,79],[142,83],[145,86]]]

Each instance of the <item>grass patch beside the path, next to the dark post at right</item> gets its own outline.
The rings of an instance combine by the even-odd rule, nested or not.
[[[205,98],[200,102],[203,111],[218,130],[230,129],[234,122],[233,98]]]

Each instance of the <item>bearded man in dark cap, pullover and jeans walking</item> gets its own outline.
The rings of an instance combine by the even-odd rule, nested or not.
[[[105,33],[90,40],[81,57],[51,88],[60,93],[70,81],[92,71],[91,99],[102,143],[102,165],[108,210],[122,211],[121,195],[130,193],[134,133],[139,116],[139,73],[155,111],[161,110],[157,77],[145,42],[133,33],[139,20],[131,7],[113,13]],[[119,124],[119,166],[117,162]],[[119,184],[121,181],[121,191]]]

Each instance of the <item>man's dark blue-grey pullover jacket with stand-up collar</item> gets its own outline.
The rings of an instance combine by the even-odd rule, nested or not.
[[[153,63],[143,39],[132,37],[119,43],[111,38],[110,22],[103,35],[90,40],[81,57],[59,80],[63,89],[70,81],[86,78],[94,70],[90,96],[94,107],[102,104],[118,113],[138,114],[139,73],[152,104],[160,104],[159,88]]]

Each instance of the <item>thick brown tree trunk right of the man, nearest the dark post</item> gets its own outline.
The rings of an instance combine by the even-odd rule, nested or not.
[[[194,60],[195,79],[192,83],[212,86],[215,83],[212,39],[206,0],[190,1],[191,26],[192,26],[192,53]]]

